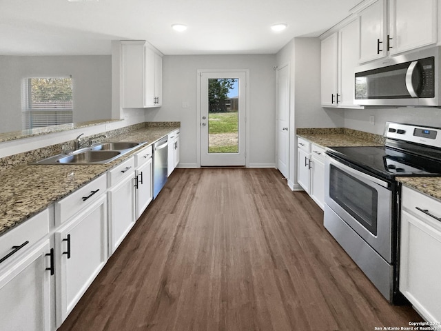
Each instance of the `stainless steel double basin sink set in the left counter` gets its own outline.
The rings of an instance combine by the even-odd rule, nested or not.
[[[34,164],[105,164],[122,157],[124,154],[147,143],[132,143],[125,141],[110,143],[94,143],[87,148],[81,148],[70,154],[58,154]]]

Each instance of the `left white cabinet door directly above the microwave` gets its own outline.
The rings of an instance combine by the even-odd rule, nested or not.
[[[378,0],[360,12],[360,62],[387,56],[386,0]]]

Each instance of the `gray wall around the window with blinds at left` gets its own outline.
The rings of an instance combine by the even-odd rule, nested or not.
[[[74,121],[110,119],[112,59],[110,55],[0,56],[0,132],[21,130],[23,78],[72,75]]]

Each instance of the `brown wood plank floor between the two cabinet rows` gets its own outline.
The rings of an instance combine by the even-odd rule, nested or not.
[[[176,169],[59,330],[375,330],[389,305],[273,169]]]

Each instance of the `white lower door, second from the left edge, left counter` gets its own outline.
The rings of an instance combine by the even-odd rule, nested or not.
[[[107,261],[104,195],[55,232],[57,323],[61,325]]]

